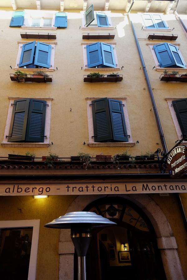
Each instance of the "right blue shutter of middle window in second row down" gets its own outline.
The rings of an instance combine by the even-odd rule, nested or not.
[[[113,47],[106,43],[101,43],[101,52],[103,57],[103,66],[116,67]]]

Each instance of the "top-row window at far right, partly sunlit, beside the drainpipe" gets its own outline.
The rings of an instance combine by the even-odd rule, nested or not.
[[[162,20],[160,14],[143,14],[143,21],[146,29],[168,29],[169,26]]]

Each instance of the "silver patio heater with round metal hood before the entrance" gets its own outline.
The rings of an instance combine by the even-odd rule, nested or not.
[[[116,223],[94,212],[70,212],[45,225],[49,228],[71,229],[71,239],[78,256],[78,280],[86,280],[86,254],[92,237],[92,228]]]

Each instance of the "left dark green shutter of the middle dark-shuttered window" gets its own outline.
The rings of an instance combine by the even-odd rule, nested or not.
[[[92,101],[92,115],[95,142],[112,140],[112,129],[107,98]]]

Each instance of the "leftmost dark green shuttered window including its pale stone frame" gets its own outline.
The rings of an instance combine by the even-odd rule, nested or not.
[[[49,147],[52,98],[9,98],[3,147]]]

